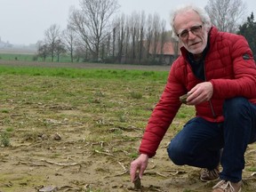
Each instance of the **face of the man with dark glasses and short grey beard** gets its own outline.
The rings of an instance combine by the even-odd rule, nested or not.
[[[174,28],[183,46],[192,54],[200,54],[207,45],[208,31],[199,15],[190,10],[178,14]]]

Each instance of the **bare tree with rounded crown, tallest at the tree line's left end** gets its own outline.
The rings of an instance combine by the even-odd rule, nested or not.
[[[51,53],[52,61],[54,58],[54,53],[56,50],[57,42],[60,40],[60,27],[57,24],[52,24],[52,26],[45,30],[45,44],[48,45],[49,52]]]

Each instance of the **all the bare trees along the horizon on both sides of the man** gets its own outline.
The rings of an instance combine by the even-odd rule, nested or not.
[[[61,31],[57,24],[53,24],[45,30],[44,41],[37,44],[38,57],[45,60],[50,56],[52,61],[59,61],[61,54],[68,53],[72,62],[162,63],[164,44],[175,41],[171,38],[172,31],[165,29],[165,20],[156,13],[117,15],[119,7],[116,0],[80,0],[80,9],[73,8],[69,12],[66,29]],[[216,27],[244,35],[252,51],[256,52],[253,13],[239,26],[245,10],[242,0],[209,1],[205,10]],[[174,45],[175,56],[178,54],[177,42]]]

